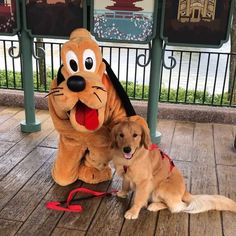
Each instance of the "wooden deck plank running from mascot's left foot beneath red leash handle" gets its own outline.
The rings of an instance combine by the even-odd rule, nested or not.
[[[80,186],[81,182],[79,181],[66,187],[61,187],[57,184],[53,185],[44,199],[20,228],[18,234],[51,235],[64,212],[46,209],[45,204],[51,201],[66,200],[69,192]]]

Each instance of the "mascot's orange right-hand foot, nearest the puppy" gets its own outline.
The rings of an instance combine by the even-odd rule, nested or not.
[[[88,167],[81,165],[79,168],[79,180],[88,184],[97,184],[107,180],[111,180],[112,173],[111,168],[107,167],[103,170],[98,170],[94,167]]]

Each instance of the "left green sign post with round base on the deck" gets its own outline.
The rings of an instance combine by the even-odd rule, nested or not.
[[[20,5],[21,13],[21,31],[20,31],[20,50],[23,74],[23,88],[24,88],[24,106],[25,106],[25,120],[21,122],[22,132],[36,132],[41,130],[41,124],[35,118],[35,102],[34,102],[34,83],[33,83],[33,38],[25,30],[25,23],[23,20],[22,1]]]

